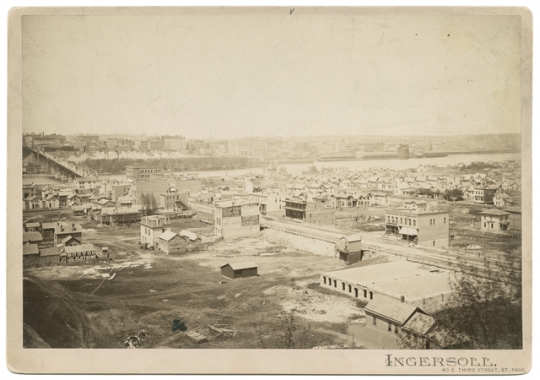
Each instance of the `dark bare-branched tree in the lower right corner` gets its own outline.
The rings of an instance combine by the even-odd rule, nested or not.
[[[476,270],[460,263],[451,282],[449,308],[437,319],[456,336],[468,336],[474,348],[521,348],[521,257],[507,251],[504,260],[484,255],[482,261],[484,269]]]

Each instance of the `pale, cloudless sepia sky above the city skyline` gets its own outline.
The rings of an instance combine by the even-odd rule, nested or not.
[[[516,16],[24,16],[23,131],[521,131]]]

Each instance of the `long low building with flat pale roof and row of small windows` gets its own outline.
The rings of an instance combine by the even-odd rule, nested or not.
[[[452,294],[449,271],[409,261],[326,272],[320,283],[366,302],[391,298],[429,313],[444,309]]]

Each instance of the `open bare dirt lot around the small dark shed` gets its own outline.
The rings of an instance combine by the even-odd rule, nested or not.
[[[138,226],[77,221],[83,222],[84,241],[109,246],[111,258],[25,270],[26,347],[121,348],[143,329],[149,336],[141,348],[256,348],[261,341],[280,347],[280,326],[290,312],[304,331],[302,347],[343,347],[351,344],[349,323],[363,320],[363,304],[319,288],[319,273],[345,267],[342,261],[285,245],[268,232],[172,256],[140,249]],[[355,266],[387,260],[373,257]],[[221,276],[221,265],[241,261],[256,262],[259,276]],[[196,344],[172,331],[175,319],[208,342]],[[209,329],[216,324],[234,334]],[[362,346],[362,337],[355,343]]]

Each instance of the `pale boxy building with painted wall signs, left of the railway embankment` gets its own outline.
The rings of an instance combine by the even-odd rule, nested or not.
[[[214,203],[217,236],[224,239],[253,236],[260,232],[259,204],[250,200],[227,200]]]

